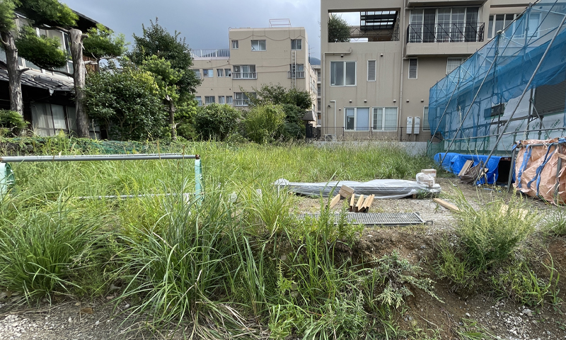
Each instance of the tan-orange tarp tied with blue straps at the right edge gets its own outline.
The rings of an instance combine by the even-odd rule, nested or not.
[[[566,138],[521,140],[514,146],[514,187],[555,204],[566,202]]]

